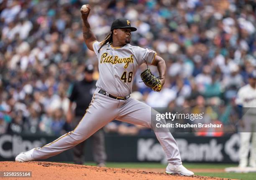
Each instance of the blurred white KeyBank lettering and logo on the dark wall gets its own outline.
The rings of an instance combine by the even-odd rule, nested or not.
[[[182,161],[186,162],[238,162],[239,134],[229,137],[183,137],[175,138]],[[139,161],[161,161],[167,157],[163,148],[154,138],[138,139]]]

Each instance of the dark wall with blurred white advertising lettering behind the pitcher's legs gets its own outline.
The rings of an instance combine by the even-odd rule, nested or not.
[[[238,162],[239,134],[225,137],[174,136],[184,162]],[[0,161],[14,160],[20,152],[42,147],[56,136],[0,135]],[[90,139],[85,143],[85,159],[92,161]],[[108,161],[167,162],[163,148],[154,135],[118,136],[106,134],[105,147]],[[46,161],[72,161],[72,150]]]

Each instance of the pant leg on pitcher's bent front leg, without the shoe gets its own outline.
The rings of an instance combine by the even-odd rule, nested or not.
[[[152,128],[150,106],[135,99],[129,99],[121,108],[117,120]],[[155,132],[155,134],[166,153],[168,162],[173,165],[181,165],[178,145],[172,134],[170,132]]]

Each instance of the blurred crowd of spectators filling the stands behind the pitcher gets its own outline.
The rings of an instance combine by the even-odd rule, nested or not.
[[[0,134],[70,130],[72,83],[82,79],[86,64],[98,65],[83,41],[82,4],[92,6],[89,21],[99,41],[113,20],[125,17],[138,28],[131,44],[164,58],[161,92],[139,83],[146,65],[134,77],[132,96],[150,106],[233,107],[255,69],[253,0],[0,0]],[[222,118],[209,117],[223,124],[232,115],[230,109],[208,112],[219,113]],[[105,130],[138,134],[144,129],[114,122]]]

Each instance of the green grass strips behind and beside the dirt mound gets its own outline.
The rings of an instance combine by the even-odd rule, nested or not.
[[[70,162],[66,162],[70,163]],[[86,162],[84,165],[95,166],[94,162]],[[107,167],[113,168],[160,168],[165,169],[166,165],[155,162],[107,162]],[[225,167],[235,167],[237,164],[211,164],[211,163],[183,163],[188,169],[224,169]],[[195,175],[222,177],[238,180],[256,180],[256,173],[234,173],[234,172],[197,172]]]

